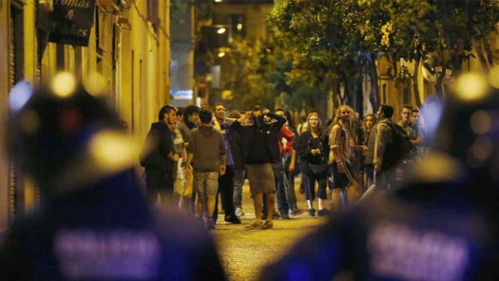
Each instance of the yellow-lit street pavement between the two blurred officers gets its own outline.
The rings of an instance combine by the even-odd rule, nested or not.
[[[296,186],[298,187],[298,186]],[[250,198],[248,182],[243,188],[242,224],[226,224],[224,215],[218,219],[214,234],[218,241],[220,256],[230,280],[256,280],[262,266],[279,258],[300,237],[316,229],[325,218],[309,218],[304,212],[289,220],[275,219],[274,227],[267,230],[246,230],[254,219],[254,208]],[[306,210],[304,195],[298,192],[298,207]],[[315,200],[314,208],[317,209]]]

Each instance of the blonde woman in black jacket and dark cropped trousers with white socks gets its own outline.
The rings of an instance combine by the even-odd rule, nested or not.
[[[317,215],[323,216],[328,213],[324,207],[327,199],[327,134],[323,137],[322,123],[317,112],[308,114],[307,123],[309,129],[304,131],[298,142],[298,153],[301,160],[306,162],[306,174],[309,180],[309,186],[305,189],[305,199],[308,203],[308,216],[315,216],[313,200],[315,199],[315,181],[319,185],[317,197],[319,198],[319,207]]]

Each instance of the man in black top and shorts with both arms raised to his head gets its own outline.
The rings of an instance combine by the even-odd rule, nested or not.
[[[268,229],[273,226],[275,183],[272,163],[278,162],[279,159],[278,155],[271,153],[271,145],[276,144],[275,136],[286,119],[272,113],[266,115],[277,121],[272,125],[265,123],[261,107],[255,106],[252,111],[246,112],[231,126],[243,136],[243,151],[256,216],[255,221],[246,226],[247,229]],[[250,124],[242,125],[248,119],[251,119]],[[264,223],[260,220],[263,194],[266,194],[267,203],[267,217]]]

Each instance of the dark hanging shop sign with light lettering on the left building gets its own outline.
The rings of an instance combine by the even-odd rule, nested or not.
[[[53,0],[49,42],[87,46],[95,0]]]

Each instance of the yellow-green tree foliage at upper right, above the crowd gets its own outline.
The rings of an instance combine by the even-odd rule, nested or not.
[[[444,73],[447,68],[457,74],[474,47],[490,69],[496,58],[487,46],[498,21],[498,0],[281,0],[270,17],[300,61],[289,71],[291,78],[305,76],[322,87],[335,84],[329,79],[344,83],[364,73],[373,81],[376,58],[403,58],[415,62],[414,72],[395,75],[412,79],[417,101],[419,64],[431,54],[440,58]]]

